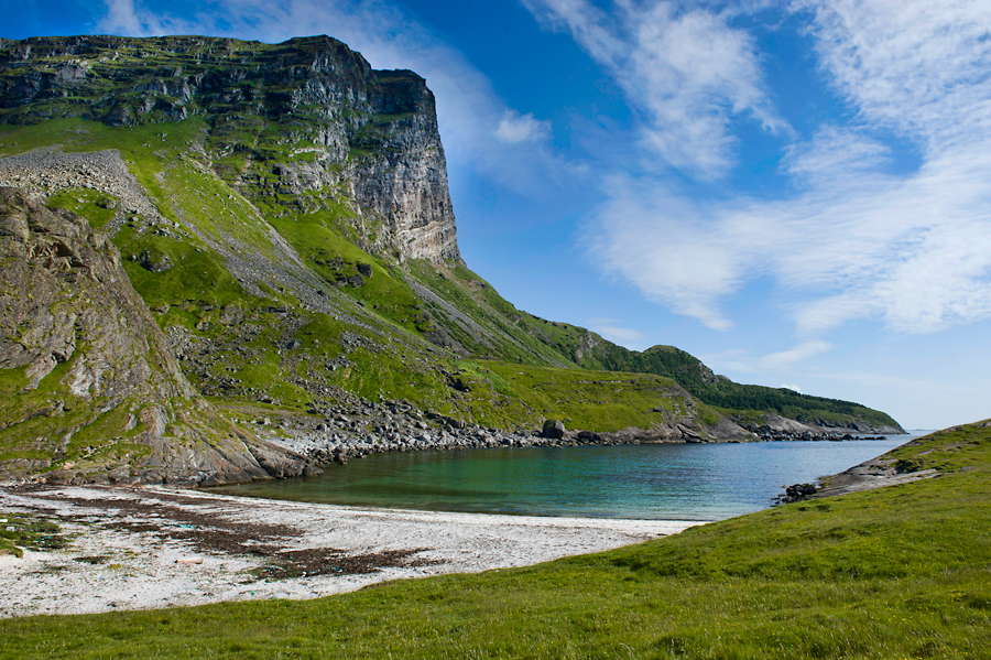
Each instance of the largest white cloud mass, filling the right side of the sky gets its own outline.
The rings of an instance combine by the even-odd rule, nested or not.
[[[801,7],[858,113],[786,150],[797,192],[690,199],[616,175],[591,258],[714,328],[731,325],[722,302],[760,278],[777,283],[804,336],[859,318],[924,333],[991,317],[991,7]],[[918,171],[886,173],[879,130],[919,144]]]

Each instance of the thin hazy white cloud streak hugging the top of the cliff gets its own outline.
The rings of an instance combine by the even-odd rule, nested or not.
[[[464,55],[384,0],[215,0],[190,20],[176,19],[157,4],[150,7],[151,2],[107,0],[107,15],[98,30],[135,36],[210,34],[266,43],[328,34],[361,53],[374,68],[407,68],[426,78],[437,100],[449,162],[529,196],[547,196],[584,172],[580,163],[546,148],[549,122],[507,107],[489,78]]]

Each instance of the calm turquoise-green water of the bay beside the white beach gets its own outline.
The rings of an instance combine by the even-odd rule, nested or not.
[[[218,490],[363,507],[720,520],[765,509],[785,485],[842,472],[911,437],[372,454],[316,477]]]

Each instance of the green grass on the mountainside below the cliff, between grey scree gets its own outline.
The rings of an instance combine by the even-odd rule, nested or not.
[[[433,322],[421,316],[422,301],[403,271],[348,239],[345,220],[349,216],[342,207],[337,212],[287,213],[258,206],[361,323],[309,312],[292,291],[276,290],[274,283],[262,286],[268,297],[248,294],[227,271],[222,258],[204,241],[190,234],[177,234],[192,224],[216,239],[233,238],[262,253],[272,249],[266,228],[254,210],[207,163],[196,160],[202,158],[200,152],[190,147],[206,130],[198,119],[132,128],[72,119],[0,129],[0,155],[53,143],[62,144],[65,151],[120,150],[159,212],[179,224],[178,230],[166,227],[163,234],[140,231],[139,224],[131,221],[113,241],[124,257],[132,284],[149,306],[159,311],[156,317],[163,329],[179,326],[215,346],[213,355],[200,360],[200,371],[187,370],[199,387],[233,379],[240,388],[265,392],[275,408],[301,413],[314,402],[311,392],[292,382],[304,378],[372,400],[380,396],[405,399],[422,409],[502,429],[538,428],[545,418],[554,416],[569,420],[569,426],[576,429],[618,431],[684,419],[691,412],[694,403],[668,379],[631,375],[607,379],[602,374],[560,368],[575,365],[555,353],[547,338],[574,337],[580,328],[521,314],[488,285],[472,292],[471,283],[481,279],[461,266],[454,266],[445,280],[432,266],[414,262],[410,267],[412,277],[438,291],[492,337],[488,347],[472,344],[468,336],[461,340],[477,348],[478,355],[494,354],[509,361],[462,360],[437,350],[420,337]],[[107,208],[108,202],[115,201],[96,191],[63,191],[51,202],[89,218],[97,227],[116,213]],[[154,273],[130,260],[130,256],[144,251],[157,258],[167,255],[174,268]],[[336,259],[344,266],[328,266]],[[357,273],[358,263],[370,264],[373,271],[362,286],[333,285],[339,274]],[[298,320],[298,328],[292,329],[292,324],[283,322],[284,315],[270,311],[280,305]],[[224,322],[230,306],[239,310],[243,325],[257,328],[250,340],[239,337],[238,329]],[[512,326],[510,315],[519,317],[519,327]],[[534,331],[541,324],[549,328]],[[346,333],[360,337],[361,346],[344,347],[341,337]],[[520,339],[510,340],[511,334]],[[298,340],[301,346],[283,349],[287,338]],[[328,369],[326,365],[337,358],[346,358],[348,366]],[[453,388],[455,378],[464,381],[468,391]],[[237,404],[255,399],[254,394],[233,391],[211,400],[222,408],[225,400]],[[591,402],[595,405],[589,405]],[[706,420],[715,421],[715,414],[708,412]]]

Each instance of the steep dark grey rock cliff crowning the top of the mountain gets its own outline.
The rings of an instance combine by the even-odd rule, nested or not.
[[[116,64],[124,55],[144,66]],[[426,82],[373,71],[327,36],[277,45],[198,36],[6,41],[0,107],[14,110],[6,120],[15,122],[77,116],[130,126],[203,116],[204,149],[246,196],[291,196],[306,210],[351,206],[374,235],[372,250],[460,259]],[[273,123],[275,138],[261,134]]]

